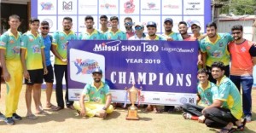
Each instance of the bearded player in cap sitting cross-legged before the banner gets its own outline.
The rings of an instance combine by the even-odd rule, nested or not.
[[[113,112],[111,104],[111,94],[108,84],[102,82],[102,70],[96,68],[92,72],[93,83],[86,84],[80,95],[79,103],[74,104],[75,109],[82,117],[100,117],[106,119],[107,113]],[[84,102],[86,95],[89,101]]]

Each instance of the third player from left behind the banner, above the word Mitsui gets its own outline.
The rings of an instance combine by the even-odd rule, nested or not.
[[[110,18],[111,29],[105,33],[105,38],[107,40],[126,40],[125,32],[119,30],[119,18],[117,16],[112,16]]]

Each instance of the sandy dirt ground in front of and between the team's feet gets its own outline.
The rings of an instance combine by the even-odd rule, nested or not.
[[[17,113],[23,117],[22,120],[16,121],[15,125],[7,125],[3,120],[0,121],[0,133],[12,132],[173,132],[173,133],[205,133],[215,132],[216,130],[207,128],[205,124],[199,124],[196,121],[185,120],[181,113],[142,113],[139,110],[140,120],[125,120],[127,113],[124,109],[116,109],[107,119],[86,118],[82,119],[74,110],[63,109],[59,112],[45,110],[49,115],[38,115],[37,120],[26,119],[26,102],[25,102],[25,85],[20,93],[19,109]],[[0,99],[0,111],[5,110],[5,84],[2,84]],[[42,90],[41,101],[45,105],[45,91]],[[52,95],[52,103],[56,105],[55,91]],[[35,113],[34,103],[32,102],[32,112]],[[244,132],[256,133],[256,90],[253,90],[253,122],[247,123]]]

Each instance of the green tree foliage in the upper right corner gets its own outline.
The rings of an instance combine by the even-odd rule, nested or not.
[[[256,14],[256,0],[220,0],[224,6],[220,9],[220,14]]]

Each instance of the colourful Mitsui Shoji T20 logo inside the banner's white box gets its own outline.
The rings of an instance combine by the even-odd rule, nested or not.
[[[80,73],[83,75],[90,74],[96,68],[100,68],[99,63],[96,60],[91,59],[86,59],[84,61],[82,59],[76,59],[75,61],[73,61],[73,64],[77,68],[76,75]]]

